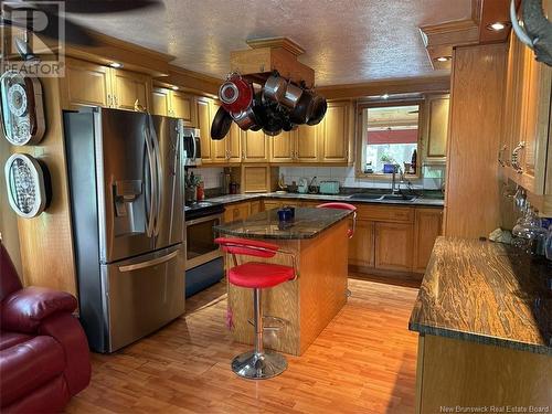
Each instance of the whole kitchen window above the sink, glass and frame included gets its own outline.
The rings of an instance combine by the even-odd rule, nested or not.
[[[357,177],[420,177],[422,102],[370,103],[359,107]]]

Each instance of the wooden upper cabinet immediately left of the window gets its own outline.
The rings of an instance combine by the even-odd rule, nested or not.
[[[349,147],[353,129],[352,103],[329,102],[320,125],[320,162],[349,162]]]

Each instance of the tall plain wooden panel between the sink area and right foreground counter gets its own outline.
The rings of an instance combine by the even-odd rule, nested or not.
[[[506,43],[455,49],[444,233],[487,236],[500,223],[497,153]]]

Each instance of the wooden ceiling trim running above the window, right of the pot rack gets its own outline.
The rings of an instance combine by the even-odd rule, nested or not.
[[[403,79],[375,81],[363,84],[335,85],[318,87],[317,92],[327,99],[362,98],[383,94],[410,94],[447,92],[450,76],[431,76]]]

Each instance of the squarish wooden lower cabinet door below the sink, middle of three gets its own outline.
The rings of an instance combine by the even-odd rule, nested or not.
[[[374,224],[374,264],[379,269],[412,270],[414,227],[404,223]]]

